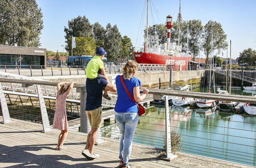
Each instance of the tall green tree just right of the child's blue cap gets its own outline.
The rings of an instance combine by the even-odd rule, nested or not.
[[[116,62],[116,59],[120,58],[120,51],[122,49],[122,36],[117,28],[117,25],[114,25],[113,27],[110,23],[106,25],[104,49],[106,50],[106,57],[109,61]]]

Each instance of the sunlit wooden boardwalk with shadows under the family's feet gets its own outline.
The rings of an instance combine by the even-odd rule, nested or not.
[[[0,120],[2,117],[0,116]],[[13,119],[0,124],[0,167],[117,167],[119,142],[110,139],[95,146],[101,156],[88,160],[81,155],[86,134],[69,131],[65,143],[67,149],[56,151],[59,130],[41,133],[40,124]],[[185,153],[177,153],[171,162],[159,160],[160,150],[133,145],[130,164],[133,167],[249,167]]]

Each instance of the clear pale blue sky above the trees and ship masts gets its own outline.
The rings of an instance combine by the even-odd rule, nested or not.
[[[41,48],[62,52],[65,43],[64,27],[77,16],[86,16],[90,23],[117,25],[122,36],[132,39],[135,47],[142,47],[141,16],[145,0],[36,0],[41,8],[44,29],[41,31]],[[177,20],[179,0],[150,0],[149,25],[166,22],[166,16]],[[222,24],[231,40],[231,57],[239,57],[244,49],[256,49],[256,0],[181,0],[183,20],[200,19],[205,25],[209,20]],[[153,14],[153,15],[152,15]],[[145,25],[145,17],[142,19]],[[65,48],[64,48],[65,51]],[[66,52],[66,51],[65,51]],[[229,52],[229,51],[228,51]],[[223,51],[226,57],[227,51]],[[201,57],[204,57],[201,52]],[[229,53],[228,53],[229,55]]]

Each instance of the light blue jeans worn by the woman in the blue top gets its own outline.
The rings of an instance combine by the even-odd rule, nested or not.
[[[115,119],[122,133],[119,159],[123,159],[123,166],[127,166],[132,152],[133,136],[139,121],[139,114],[132,112],[115,113]]]

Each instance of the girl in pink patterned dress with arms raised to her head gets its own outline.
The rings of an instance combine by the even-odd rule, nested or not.
[[[53,118],[53,128],[61,130],[59,134],[58,144],[55,148],[56,150],[63,150],[65,147],[63,146],[65,139],[68,135],[68,120],[67,120],[67,112],[66,112],[66,98],[70,91],[74,86],[74,82],[72,81],[68,85],[67,82],[59,82],[57,84],[57,97],[55,104],[55,113]]]

